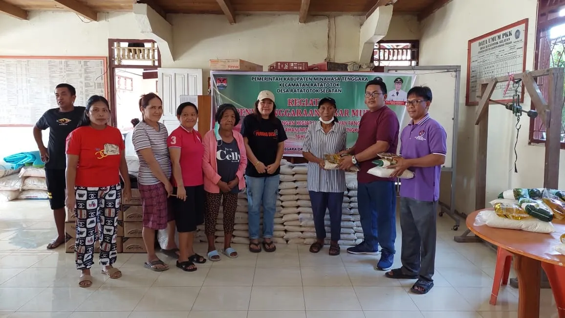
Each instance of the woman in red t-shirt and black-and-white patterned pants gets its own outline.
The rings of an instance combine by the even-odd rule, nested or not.
[[[94,242],[99,237],[102,273],[120,278],[112,267],[117,257],[118,211],[121,202],[120,175],[124,181],[123,197],[131,197],[124,142],[118,128],[107,125],[110,105],[106,98],[94,95],[86,104],[82,127],[67,137],[68,209],[76,216],[76,268],[82,271],[79,286],[90,287],[90,267],[94,264]]]

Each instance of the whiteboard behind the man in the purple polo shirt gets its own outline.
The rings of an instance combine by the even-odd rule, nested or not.
[[[454,167],[455,142],[457,142],[457,113],[459,110],[459,74],[460,67],[430,66],[430,67],[388,67],[385,72],[416,74],[414,86],[428,86],[432,89],[432,103],[429,115],[438,121],[447,133],[447,154],[444,168]],[[400,131],[410,122],[410,116],[402,117]],[[400,140],[398,140],[400,149]]]

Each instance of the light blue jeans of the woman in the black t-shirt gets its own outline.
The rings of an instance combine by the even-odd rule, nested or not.
[[[249,207],[249,239],[259,238],[260,207],[263,205],[263,238],[273,237],[279,175],[272,177],[245,176],[247,205]]]

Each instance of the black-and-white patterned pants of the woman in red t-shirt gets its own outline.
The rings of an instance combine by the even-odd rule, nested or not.
[[[103,188],[75,187],[76,193],[76,268],[89,269],[94,265],[94,242],[100,241],[100,265],[116,262],[118,211],[121,185]]]

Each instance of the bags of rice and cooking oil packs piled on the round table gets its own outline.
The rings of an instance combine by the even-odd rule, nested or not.
[[[479,212],[475,225],[551,233],[553,219],[565,219],[565,192],[554,189],[511,189],[491,201],[494,211]]]

